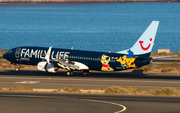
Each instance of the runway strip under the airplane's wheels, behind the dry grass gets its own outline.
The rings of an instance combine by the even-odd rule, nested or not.
[[[147,90],[159,87],[176,87],[180,89],[180,75],[163,73],[103,73],[92,72],[84,76],[75,72],[74,76],[66,76],[65,71],[45,73],[36,70],[0,70],[0,87],[10,88],[24,85],[35,89],[63,89],[64,87],[79,89],[101,89],[108,86],[136,87]]]

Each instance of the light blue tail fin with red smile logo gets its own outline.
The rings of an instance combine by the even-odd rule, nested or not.
[[[154,45],[154,40],[156,32],[158,29],[159,21],[152,21],[146,31],[141,35],[141,37],[136,41],[136,43],[130,48],[130,51],[134,55],[142,55],[151,53],[152,47]],[[117,53],[128,54],[129,49],[119,51]]]

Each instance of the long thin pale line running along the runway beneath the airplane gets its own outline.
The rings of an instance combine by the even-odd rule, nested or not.
[[[38,80],[49,80],[49,78],[26,78],[26,77],[0,77],[6,79],[38,79]],[[172,82],[172,81],[140,81],[140,80],[97,80],[97,79],[64,79],[64,78],[51,78],[51,80],[61,80],[61,81],[97,81],[97,82],[149,82],[149,83],[171,83],[171,84],[180,84],[180,82]]]

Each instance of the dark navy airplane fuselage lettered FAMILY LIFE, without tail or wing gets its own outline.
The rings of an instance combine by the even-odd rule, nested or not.
[[[45,58],[47,51],[46,47],[17,47],[3,56],[12,63],[37,65]],[[118,71],[147,65],[152,58],[147,58],[145,55],[134,56],[132,54],[52,48],[50,60],[80,62],[89,70]]]

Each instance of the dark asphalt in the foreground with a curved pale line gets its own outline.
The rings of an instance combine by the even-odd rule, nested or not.
[[[2,113],[179,113],[180,97],[0,92]]]

